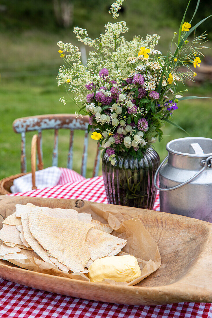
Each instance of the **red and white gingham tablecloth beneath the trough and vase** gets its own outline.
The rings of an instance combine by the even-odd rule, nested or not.
[[[73,170],[60,169],[62,174],[57,186],[11,195],[82,199],[107,203],[102,176],[85,179]],[[159,194],[157,194],[154,210],[159,210]],[[188,302],[161,306],[112,304],[53,294],[0,279],[0,317],[212,318],[212,304]]]

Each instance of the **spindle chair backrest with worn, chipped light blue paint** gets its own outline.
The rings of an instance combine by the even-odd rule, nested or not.
[[[25,134],[28,131],[38,131],[38,138],[40,143],[41,156],[42,152],[42,130],[54,129],[54,144],[52,165],[58,165],[58,130],[69,129],[70,130],[70,142],[67,157],[67,168],[72,169],[73,164],[73,141],[74,130],[84,130],[84,147],[82,154],[81,175],[86,176],[87,157],[88,157],[88,116],[83,118],[77,118],[75,114],[51,114],[51,115],[39,115],[31,117],[23,117],[16,119],[12,126],[13,130],[21,134],[21,172],[26,172],[26,152],[25,152]],[[93,176],[98,176],[100,162],[100,150],[96,150],[96,157],[93,169]]]

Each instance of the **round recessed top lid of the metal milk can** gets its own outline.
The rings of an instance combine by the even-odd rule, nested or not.
[[[212,156],[212,139],[204,137],[185,137],[174,139],[167,143],[169,153],[187,157]]]

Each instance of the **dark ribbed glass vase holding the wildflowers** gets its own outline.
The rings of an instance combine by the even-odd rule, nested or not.
[[[106,153],[102,158],[108,203],[151,210],[157,192],[153,179],[160,164],[158,153],[149,148],[140,161],[133,156],[118,156],[115,161],[112,166]]]

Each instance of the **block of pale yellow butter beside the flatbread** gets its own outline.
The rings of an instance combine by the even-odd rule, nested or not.
[[[96,259],[88,268],[91,282],[101,282],[104,278],[117,282],[127,282],[141,276],[137,259],[132,255],[110,256]]]

